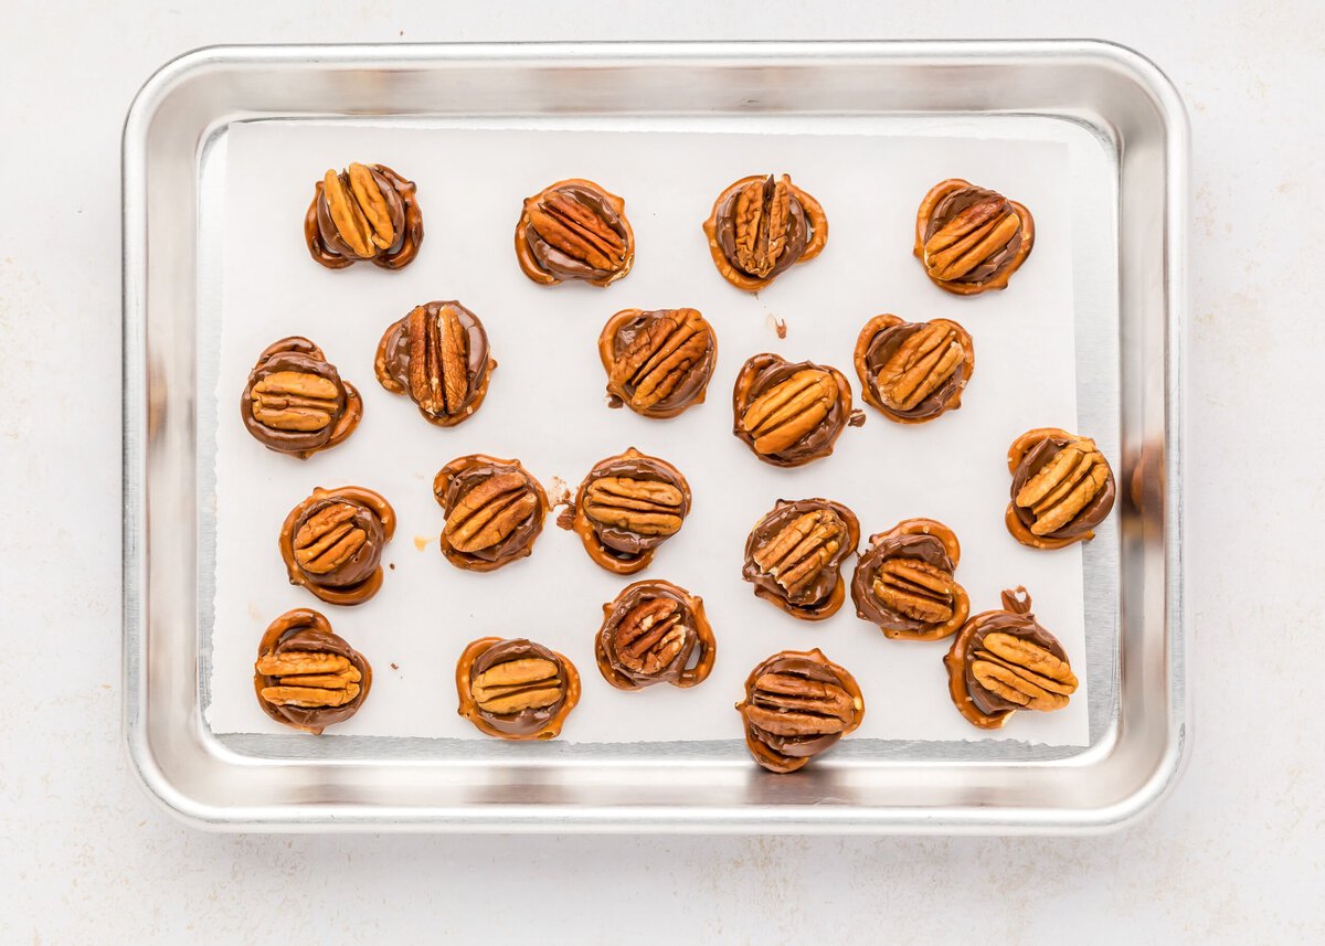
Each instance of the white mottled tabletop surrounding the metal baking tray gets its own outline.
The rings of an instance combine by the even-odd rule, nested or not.
[[[1064,7],[5,0],[0,942],[1325,939],[1325,13]],[[118,738],[118,148],[152,69],[228,41],[963,34],[1126,42],[1191,111],[1196,745],[1151,819],[1073,840],[236,837],[144,798]]]

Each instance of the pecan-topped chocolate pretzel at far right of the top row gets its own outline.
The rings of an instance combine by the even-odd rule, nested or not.
[[[1035,245],[1035,219],[996,191],[953,178],[916,213],[916,256],[939,289],[975,295],[1004,289]]]

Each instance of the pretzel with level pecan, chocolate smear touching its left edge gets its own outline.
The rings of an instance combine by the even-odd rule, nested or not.
[[[562,525],[575,530],[595,563],[633,575],[681,530],[689,511],[690,486],[681,470],[632,447],[594,465]]]

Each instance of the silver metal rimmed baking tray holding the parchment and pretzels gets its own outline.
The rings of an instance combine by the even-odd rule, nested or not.
[[[1090,132],[1108,187],[1076,211],[1092,224],[1075,244],[1088,273],[1077,282],[1079,399],[1083,427],[1114,439],[1121,489],[1117,541],[1096,543],[1085,563],[1088,749],[847,741],[806,772],[775,778],[726,742],[603,753],[465,743],[461,753],[435,741],[208,730],[199,590],[215,419],[199,351],[219,289],[204,224],[220,175],[208,168],[225,129],[280,117],[564,115],[621,127],[1031,115]],[[1187,129],[1177,93],[1137,54],[1092,41],[207,49],[139,93],[123,158],[125,733],[144,784],[171,811],[261,829],[1067,832],[1125,823],[1171,787],[1190,737]]]

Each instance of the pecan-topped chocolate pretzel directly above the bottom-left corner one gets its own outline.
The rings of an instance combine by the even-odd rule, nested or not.
[[[382,550],[395,529],[395,510],[371,489],[314,489],[281,526],[290,584],[329,604],[362,604],[382,587]]]

